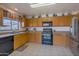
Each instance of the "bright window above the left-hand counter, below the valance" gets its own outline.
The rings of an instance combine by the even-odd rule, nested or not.
[[[3,18],[3,25],[0,26],[0,30],[19,30],[22,28],[21,22],[17,21],[16,19],[10,19],[7,17]]]

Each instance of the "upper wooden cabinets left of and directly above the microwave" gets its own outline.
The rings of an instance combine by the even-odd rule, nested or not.
[[[33,27],[42,27],[42,22],[45,21],[52,21],[51,18],[32,18],[26,21],[26,23],[29,23],[29,26]]]

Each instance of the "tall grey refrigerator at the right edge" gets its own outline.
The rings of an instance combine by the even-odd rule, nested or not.
[[[72,18],[72,28],[71,28],[71,51],[73,53],[73,55],[75,56],[79,56],[79,21],[78,21],[78,17],[73,17]]]

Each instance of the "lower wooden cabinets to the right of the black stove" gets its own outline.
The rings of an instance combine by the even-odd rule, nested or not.
[[[70,39],[68,37],[68,33],[54,33],[53,35],[53,44],[58,46],[69,47]]]

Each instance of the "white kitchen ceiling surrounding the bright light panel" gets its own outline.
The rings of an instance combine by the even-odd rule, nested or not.
[[[18,12],[27,16],[74,12],[79,10],[79,3],[56,3],[53,5],[38,8],[31,8],[29,3],[0,3],[0,5],[12,10],[17,8]]]

